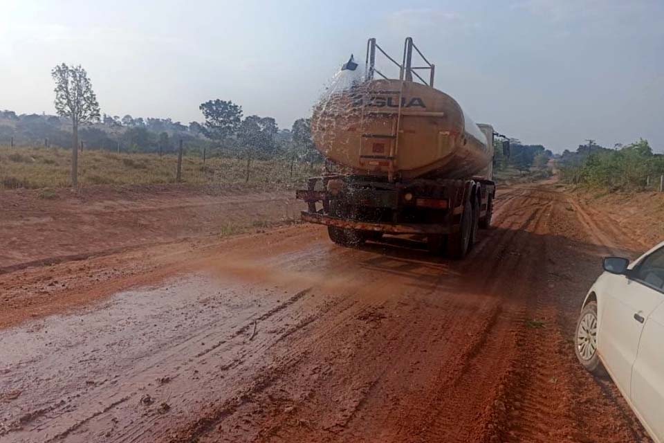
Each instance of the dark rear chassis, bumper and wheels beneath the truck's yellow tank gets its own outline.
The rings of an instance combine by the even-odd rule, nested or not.
[[[432,252],[461,258],[477,229],[490,225],[495,192],[495,183],[479,178],[401,183],[326,174],[308,179],[296,198],[308,206],[302,220],[328,226],[336,243],[351,246],[382,234],[422,235]]]

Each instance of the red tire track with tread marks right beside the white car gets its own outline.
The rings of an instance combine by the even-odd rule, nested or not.
[[[557,224],[566,218],[565,229],[570,227],[571,215],[562,207],[568,203],[560,193],[552,201],[551,215],[537,226],[537,233],[542,235],[539,242],[542,260],[546,258],[543,264],[554,269],[559,261],[554,259],[563,258],[560,257],[560,242],[564,240],[556,237],[565,233],[557,228]],[[567,248],[566,254],[569,253],[574,253],[574,248]],[[578,263],[587,261],[587,257],[578,256],[564,259]],[[561,274],[565,275],[563,271],[550,271],[547,280],[532,282],[535,300],[532,318],[538,323],[529,323],[527,328],[519,331],[520,351],[513,359],[515,370],[501,383],[499,408],[493,412],[490,422],[494,433],[488,441],[586,443],[600,441],[598,435],[602,435],[602,442],[642,441],[643,433],[634,431],[640,428],[638,424],[634,426],[631,422],[629,426],[629,419],[617,419],[619,408],[616,409],[616,403],[620,401],[606,396],[602,398],[601,393],[592,388],[593,383],[589,380],[592,377],[580,370],[575,361],[573,344],[566,338],[566,328],[560,324],[560,318],[564,313],[575,316],[580,300],[571,305],[571,311],[561,301],[569,298],[563,292],[569,291],[569,280],[560,284],[557,278],[553,278]],[[585,288],[579,289],[580,296],[584,291]],[[565,319],[565,323],[569,320]],[[595,399],[590,401],[592,397]],[[600,411],[609,412],[609,419],[614,421],[614,431],[608,435],[606,418],[597,420],[602,416]]]

